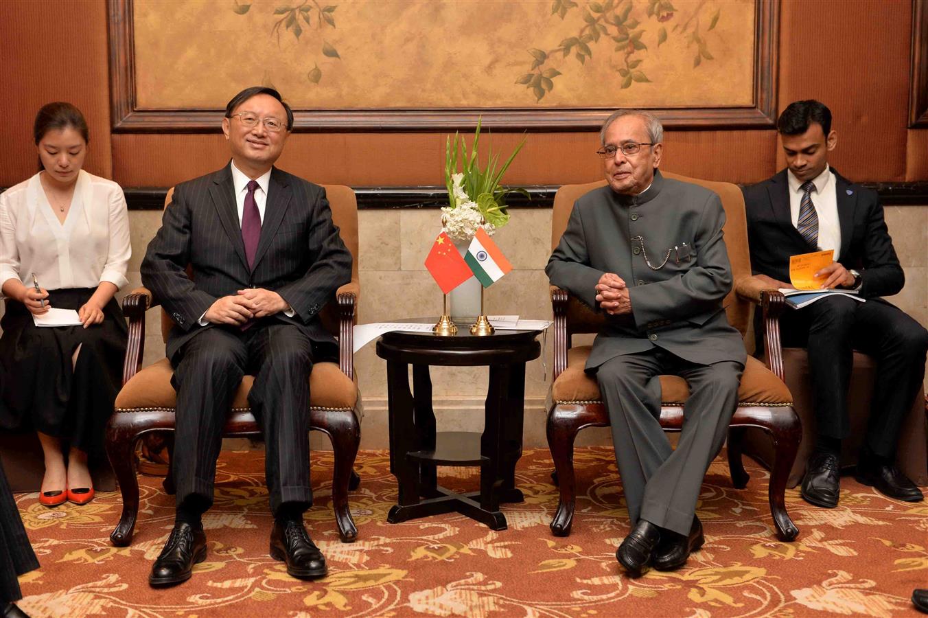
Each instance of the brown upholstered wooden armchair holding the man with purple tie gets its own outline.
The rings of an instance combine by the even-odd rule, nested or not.
[[[309,376],[310,429],[329,435],[335,465],[332,479],[332,502],[335,521],[343,542],[351,542],[357,529],[348,508],[349,485],[354,485],[354,457],[361,440],[360,398],[354,375],[352,328],[357,321],[357,300],[360,292],[357,274],[357,201],[350,187],[328,186],[326,193],[332,220],[339,226],[342,241],[354,258],[352,280],[337,290],[335,298],[320,313],[323,324],[339,341],[339,363],[316,363]],[[172,189],[173,191],[173,189]],[[171,201],[168,193],[165,205]],[[168,433],[165,443],[170,452],[173,444],[174,407],[176,393],[171,386],[174,373],[167,358],[141,368],[145,343],[146,310],[157,304],[145,288],[133,290],[122,302],[129,320],[129,345],[122,374],[122,391],[116,397],[116,412],[107,428],[106,448],[110,464],[122,491],[122,518],[110,534],[117,547],[132,542],[138,516],[138,480],[135,476],[135,445],[149,435]],[[161,312],[161,334],[166,340],[173,322]],[[226,418],[224,437],[260,435],[258,423],[251,414],[248,393],[253,378],[245,376],[235,393],[232,408]],[[309,462],[306,462],[309,465]],[[164,481],[169,494],[174,493],[170,471]]]

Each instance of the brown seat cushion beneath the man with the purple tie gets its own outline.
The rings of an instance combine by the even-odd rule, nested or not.
[[[116,396],[117,410],[132,410],[145,407],[173,408],[177,405],[177,393],[171,386],[174,369],[167,358],[145,367],[122,387]],[[232,407],[247,408],[248,392],[254,378],[245,376],[238,385]],[[357,387],[342,373],[335,363],[316,363],[309,375],[309,405],[313,407],[337,407],[354,409],[357,403]]]

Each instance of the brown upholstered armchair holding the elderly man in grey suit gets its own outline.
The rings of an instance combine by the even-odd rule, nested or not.
[[[751,264],[748,254],[747,225],[744,216],[744,199],[741,189],[730,183],[719,183],[686,178],[664,173],[708,187],[722,199],[726,212],[725,242],[731,262],[733,290],[725,300],[728,321],[744,335],[751,323],[752,301],[759,298],[751,287]],[[551,247],[558,245],[567,227],[574,201],[588,191],[602,187],[604,181],[587,185],[561,187],[554,199],[551,222]],[[595,333],[603,316],[568,294],[551,288],[554,310],[554,380],[549,393],[548,446],[554,459],[555,478],[559,484],[561,500],[551,521],[553,534],[570,534],[574,519],[576,487],[574,480],[574,439],[586,427],[606,427],[609,414],[602,403],[595,377],[584,371],[589,345],[572,345],[574,335]],[[667,431],[679,431],[683,424],[683,403],[689,396],[686,380],[677,376],[661,376],[661,425]],[[799,530],[786,511],[785,489],[793,466],[796,449],[802,435],[799,417],[793,410],[793,398],[780,378],[761,361],[748,356],[741,377],[739,405],[731,419],[728,431],[728,467],[735,487],[747,485],[749,476],[741,463],[741,444],[744,430],[757,428],[770,435],[775,454],[767,495],[777,535],[784,541],[793,540]]]

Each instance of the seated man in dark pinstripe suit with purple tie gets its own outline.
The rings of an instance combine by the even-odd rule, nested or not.
[[[177,391],[176,519],[151,586],[186,581],[206,558],[200,518],[213,503],[221,431],[245,374],[255,377],[249,404],[264,431],[271,556],[294,577],[326,574],[303,527],[312,503],[307,377],[314,361],[338,355],[318,313],[351,279],[352,257],[325,190],[273,166],[292,127],[272,88],[229,101],[232,161],[174,189],[142,262],[143,283],[174,318],[166,353]]]

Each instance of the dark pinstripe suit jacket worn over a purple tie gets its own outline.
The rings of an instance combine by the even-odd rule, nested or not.
[[[161,229],[142,261],[142,283],[174,318],[168,358],[213,327],[200,327],[198,320],[218,298],[244,288],[276,291],[295,315],[275,317],[329,347],[324,344],[334,340],[318,313],[351,280],[352,256],[332,223],[325,189],[277,168],[271,171],[261,239],[249,270],[229,165],[174,188]]]

